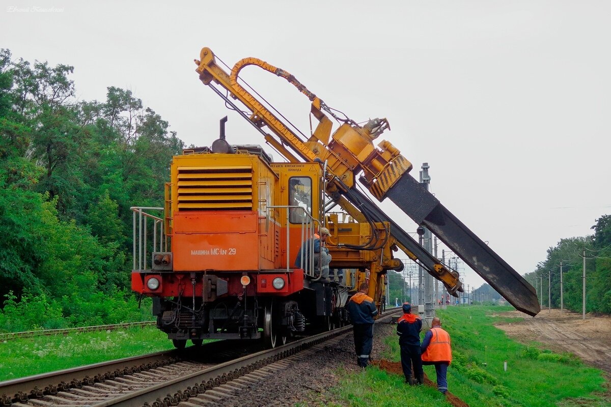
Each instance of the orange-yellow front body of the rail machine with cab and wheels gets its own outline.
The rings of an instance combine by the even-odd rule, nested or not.
[[[155,218],[165,251],[134,261],[144,266],[134,267],[132,289],[153,298],[158,327],[177,346],[261,337],[273,346],[306,321],[331,319],[332,298],[340,301],[340,288],[310,286],[315,276],[295,265],[323,217],[322,166],[272,163],[260,147],[243,148],[174,157],[164,217]],[[148,236],[136,225],[134,236]]]

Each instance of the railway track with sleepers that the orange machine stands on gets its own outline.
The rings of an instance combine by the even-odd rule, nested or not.
[[[388,317],[397,309],[386,311]],[[219,341],[0,383],[0,405],[12,407],[195,407],[209,405],[316,351],[351,326],[258,350]]]

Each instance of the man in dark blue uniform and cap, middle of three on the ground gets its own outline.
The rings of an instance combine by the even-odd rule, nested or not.
[[[403,304],[403,315],[397,320],[397,335],[401,347],[401,367],[405,375],[405,383],[424,384],[424,370],[420,359],[420,331],[422,320],[411,313],[410,303]],[[412,375],[412,365],[414,366]]]

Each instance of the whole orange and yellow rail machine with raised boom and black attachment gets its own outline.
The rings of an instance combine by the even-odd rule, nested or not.
[[[260,59],[242,59],[226,71],[203,48],[195,62],[200,81],[286,162],[273,162],[258,145],[231,144],[224,118],[210,146],[172,159],[163,208],[132,208],[132,288],[153,298],[158,328],[176,347],[204,339],[275,347],[348,323],[344,306],[360,281],[367,279],[381,306],[384,275],[403,268],[393,256],[399,249],[450,294],[462,291],[458,273],[424,250],[357,182],[430,229],[514,307],[538,314],[535,289],[409,175],[412,164],[395,146],[374,145],[389,129],[386,118],[361,126]],[[239,74],[248,65],[284,78],[310,100],[318,124],[309,135],[246,90]],[[320,256],[313,245],[304,244],[321,226],[331,231],[330,282],[316,271]],[[304,255],[296,263],[299,251]]]

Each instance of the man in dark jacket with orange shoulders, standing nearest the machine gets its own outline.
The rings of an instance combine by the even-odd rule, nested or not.
[[[378,315],[378,308],[373,298],[367,295],[369,284],[361,283],[359,292],[350,297],[348,313],[354,330],[354,350],[356,364],[367,367],[369,355],[373,347],[373,317]]]

